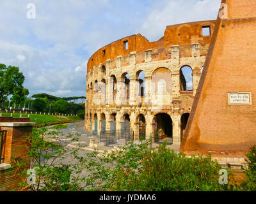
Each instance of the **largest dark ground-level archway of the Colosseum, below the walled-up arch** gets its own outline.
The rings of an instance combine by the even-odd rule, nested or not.
[[[167,113],[157,113],[153,124],[155,124],[155,133],[157,133],[159,141],[161,142],[161,140],[166,139],[168,143],[172,143],[173,128],[170,115]]]

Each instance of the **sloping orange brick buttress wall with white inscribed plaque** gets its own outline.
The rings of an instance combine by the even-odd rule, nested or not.
[[[180,149],[243,159],[256,144],[256,1],[222,3]]]

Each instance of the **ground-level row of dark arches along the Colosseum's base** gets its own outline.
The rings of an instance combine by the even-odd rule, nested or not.
[[[120,131],[121,133],[127,133],[130,131],[133,131],[134,138],[137,139],[144,139],[146,138],[146,119],[145,115],[140,113],[137,115],[136,120],[134,122],[134,125],[131,124],[131,119],[129,113],[124,113],[122,117],[120,118],[121,126]],[[186,129],[186,125],[188,123],[189,119],[189,113],[184,113],[180,117],[180,141],[182,141],[184,131]],[[95,133],[104,133],[106,132],[106,115],[105,113],[100,113],[100,119],[98,120],[98,115],[95,113],[92,115],[92,113],[88,114],[86,113],[86,120],[90,122],[90,130],[94,131]],[[94,120],[94,121],[93,121]],[[100,123],[99,130],[98,130],[98,122]],[[112,133],[112,135],[115,135],[116,133],[116,113],[111,113],[109,115],[109,132]],[[154,115],[152,121],[152,130],[154,133],[161,132],[164,136],[164,138],[169,139],[171,142],[173,141],[173,120],[172,117],[168,113],[157,113]],[[94,127],[92,127],[94,123]],[[94,129],[93,129],[94,128]]]

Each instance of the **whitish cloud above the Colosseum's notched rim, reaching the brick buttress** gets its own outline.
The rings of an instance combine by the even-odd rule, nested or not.
[[[215,20],[221,0],[156,1],[141,25],[141,33],[150,41],[164,35],[166,25],[200,20]]]

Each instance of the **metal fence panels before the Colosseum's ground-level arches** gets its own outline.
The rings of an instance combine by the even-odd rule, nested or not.
[[[132,140],[134,140],[132,129],[129,129],[129,131],[100,132],[100,142],[103,142],[105,146],[125,145],[125,143]]]

